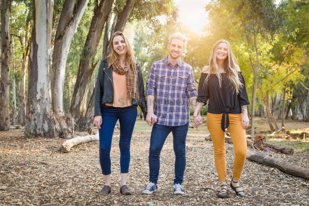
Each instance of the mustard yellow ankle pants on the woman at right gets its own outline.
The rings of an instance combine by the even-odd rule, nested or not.
[[[241,117],[242,114],[229,114],[230,125],[227,128],[231,134],[235,152],[234,179],[240,179],[247,154],[246,132],[241,125]],[[222,114],[207,113],[207,128],[214,145],[214,161],[219,181],[226,181],[225,141],[224,132],[221,129],[221,120]]]

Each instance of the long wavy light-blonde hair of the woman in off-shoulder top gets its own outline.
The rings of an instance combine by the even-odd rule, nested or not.
[[[229,78],[229,80],[233,83],[234,89],[236,90],[236,93],[238,94],[240,88],[243,87],[243,83],[241,83],[238,78],[238,72],[236,70],[237,60],[231,50],[231,44],[228,41],[222,39],[222,40],[217,41],[216,44],[214,44],[213,51],[212,51],[212,54],[210,56],[209,63],[208,63],[209,74],[216,74],[216,76],[219,79],[219,85],[221,87],[222,78],[221,78],[221,75],[218,69],[217,49],[218,49],[219,44],[222,42],[227,44],[227,57],[223,61],[222,67],[227,77]],[[210,75],[206,77],[204,86],[206,85],[209,78],[210,78]]]

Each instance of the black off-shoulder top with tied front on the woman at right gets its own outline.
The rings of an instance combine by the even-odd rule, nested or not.
[[[208,82],[206,77],[210,75]],[[218,77],[215,74],[202,73],[198,85],[197,101],[206,104],[208,102],[208,112],[212,114],[222,114],[221,128],[224,131],[229,126],[228,114],[241,114],[242,105],[250,104],[245,86],[245,80],[241,72],[238,72],[238,78],[243,86],[237,94],[233,83],[227,78],[226,73],[221,73],[221,87]],[[226,122],[225,122],[226,114]]]

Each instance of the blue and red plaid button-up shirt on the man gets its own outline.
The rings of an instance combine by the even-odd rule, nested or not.
[[[156,124],[180,126],[190,120],[188,98],[197,96],[191,65],[181,59],[171,65],[167,57],[155,61],[148,73],[146,95],[155,96]]]

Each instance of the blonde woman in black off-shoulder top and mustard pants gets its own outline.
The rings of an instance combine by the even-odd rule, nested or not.
[[[201,124],[201,117],[198,114],[207,100],[209,100],[207,127],[214,145],[215,166],[221,182],[221,190],[217,196],[226,198],[228,195],[224,141],[224,131],[227,128],[235,151],[230,186],[236,195],[245,197],[238,181],[247,154],[245,129],[249,124],[247,114],[249,101],[244,78],[231,51],[230,43],[226,40],[219,40],[214,45],[209,64],[202,69],[198,85],[198,104],[193,114],[195,127]]]

